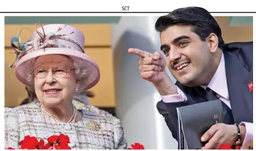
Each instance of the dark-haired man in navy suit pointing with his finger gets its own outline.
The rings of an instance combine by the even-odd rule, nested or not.
[[[141,77],[154,84],[161,94],[157,109],[172,136],[178,140],[177,107],[219,98],[231,119],[204,133],[201,141],[208,142],[202,149],[220,149],[223,144],[248,149],[253,141],[252,42],[225,44],[216,20],[198,7],[161,16],[155,28],[167,60],[158,52],[128,52],[141,57]],[[166,65],[177,83],[172,83],[165,72]]]

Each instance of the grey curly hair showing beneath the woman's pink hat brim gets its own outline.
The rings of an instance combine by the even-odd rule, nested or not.
[[[75,78],[77,80],[82,80],[84,78],[87,78],[88,77],[88,72],[87,72],[87,69],[86,68],[81,68],[81,64],[82,64],[82,60],[80,59],[72,59],[72,58],[69,58],[73,61],[73,65],[74,65],[74,68],[75,68]],[[34,71],[34,60],[28,60],[25,62],[25,66],[28,67],[30,66],[31,68],[26,68],[26,70],[24,71],[24,75],[26,77],[26,81],[29,81],[31,83],[34,83],[34,74],[33,74],[33,71]],[[85,80],[86,81],[86,80]],[[87,87],[87,83],[80,83],[80,86],[78,88],[78,94],[82,91],[84,91],[84,89]]]

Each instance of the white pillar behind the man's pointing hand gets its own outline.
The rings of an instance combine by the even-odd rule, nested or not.
[[[130,47],[160,52],[159,33],[154,28],[157,19],[123,16],[118,24],[111,25],[117,116],[124,126],[128,146],[139,142],[145,149],[177,149],[177,141],[157,111],[160,95],[141,78],[139,57],[128,53]],[[169,76],[176,81],[170,73]]]

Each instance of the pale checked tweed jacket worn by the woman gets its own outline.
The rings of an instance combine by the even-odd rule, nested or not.
[[[55,121],[45,115],[39,104],[5,108],[5,149],[9,146],[19,149],[26,135],[44,139],[64,133],[70,138],[72,149],[127,149],[127,141],[118,118],[106,118],[95,112],[81,109],[82,119],[77,123]],[[88,126],[97,123],[99,129]]]

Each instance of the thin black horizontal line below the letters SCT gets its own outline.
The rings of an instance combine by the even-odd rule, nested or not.
[[[0,13],[169,13],[169,12],[0,12]],[[210,12],[210,13],[256,13],[256,12]]]

